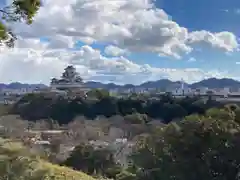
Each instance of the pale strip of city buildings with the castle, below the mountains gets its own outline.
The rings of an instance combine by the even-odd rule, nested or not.
[[[61,96],[86,96],[93,88],[87,87],[83,83],[83,79],[78,75],[74,66],[67,66],[62,73],[60,80],[53,78],[49,86],[44,87],[32,87],[32,88],[1,88],[0,99],[2,104],[11,104],[16,102],[22,96],[29,93],[45,93],[45,94],[58,94]],[[96,89],[96,88],[94,88]],[[97,88],[102,89],[102,88]],[[174,87],[166,87],[165,90],[160,88],[114,88],[107,89],[110,95],[122,98],[131,94],[149,95],[155,97],[160,94],[169,93],[174,97],[186,97],[186,96],[201,96],[208,97],[211,95],[218,101],[236,101],[240,102],[240,87],[239,88],[215,88],[208,87],[190,88],[185,87],[185,82],[180,81]]]

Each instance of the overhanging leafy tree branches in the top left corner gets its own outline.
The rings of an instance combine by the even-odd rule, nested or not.
[[[13,0],[13,3],[0,9],[0,42],[1,45],[14,46],[16,36],[6,26],[8,22],[24,21],[31,24],[33,17],[41,6],[41,0]]]

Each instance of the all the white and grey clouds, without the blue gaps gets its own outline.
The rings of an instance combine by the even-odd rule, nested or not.
[[[238,49],[230,32],[189,32],[150,0],[44,0],[31,26],[15,24],[16,48],[0,50],[0,82],[48,83],[64,67],[76,65],[84,79],[141,83],[169,78],[192,82],[228,73],[201,69],[156,68],[123,57],[126,52],[147,52],[181,58],[195,44],[207,44],[224,52]],[[41,41],[45,37],[48,41]],[[85,45],[69,50],[77,41]],[[107,58],[93,49],[93,42],[112,44]],[[120,57],[118,57],[120,56]]]

